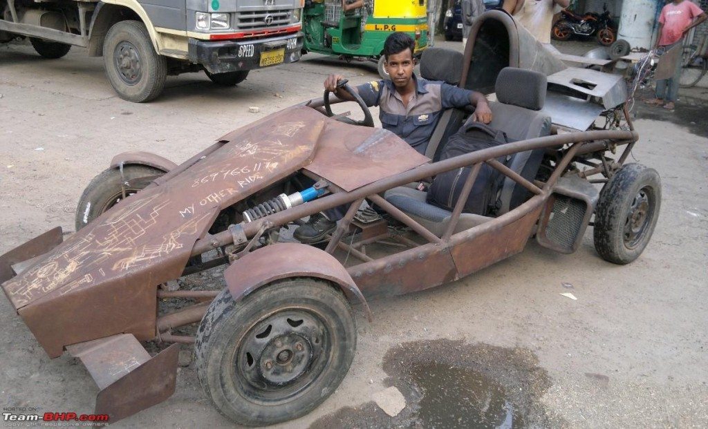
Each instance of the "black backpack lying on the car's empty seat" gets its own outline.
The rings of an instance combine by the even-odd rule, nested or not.
[[[440,161],[514,141],[506,137],[506,133],[500,130],[495,130],[481,122],[470,122],[463,125],[455,135],[450,137],[442,149]],[[497,160],[506,165],[509,159],[510,156],[503,156]],[[438,174],[438,176],[435,176],[433,183],[430,184],[430,188],[428,188],[426,201],[432,205],[452,211],[459,194],[462,193],[462,186],[471,172],[471,167],[462,167]],[[499,191],[504,178],[506,176],[496,170],[496,168],[488,164],[482,164],[479,176],[474,181],[462,212],[481,214],[483,216],[495,214],[500,207],[498,201]]]

